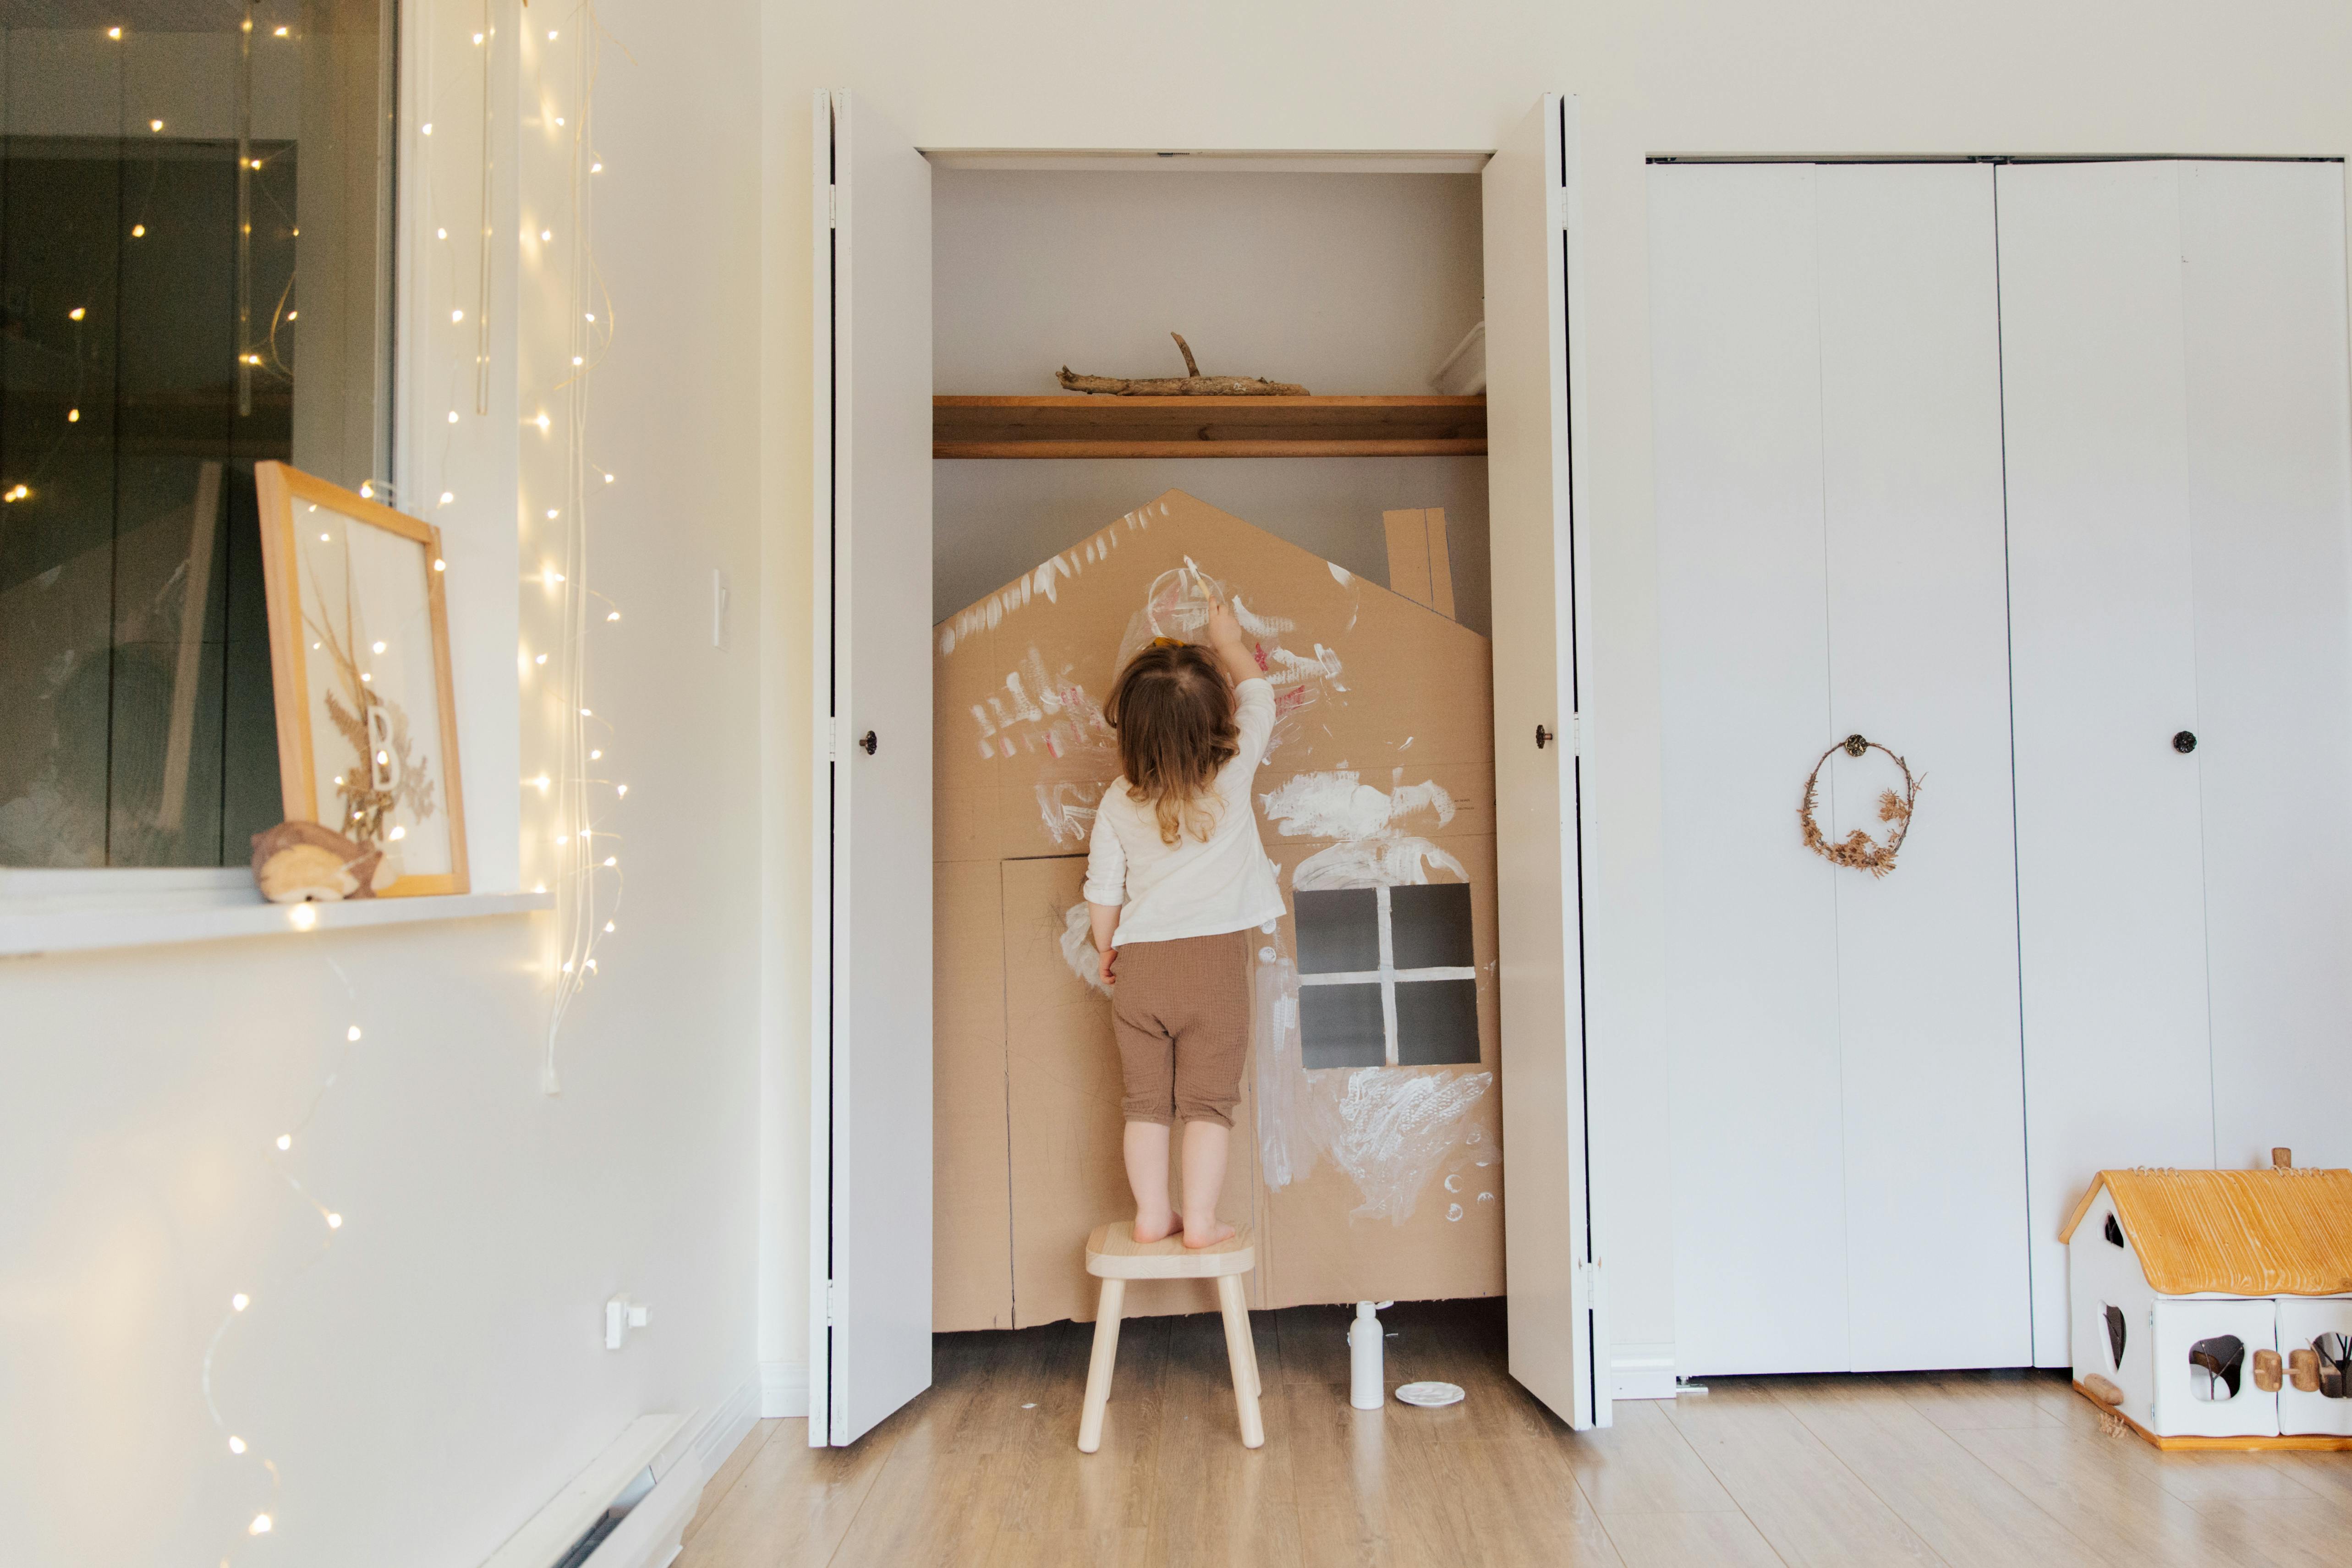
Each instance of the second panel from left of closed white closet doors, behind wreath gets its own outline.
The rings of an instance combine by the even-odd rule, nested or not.
[[[1816,172],[1830,738],[1924,773],[1898,870],[1832,872],[1856,1371],[2032,1356],[1992,169]],[[1799,773],[1778,783],[1783,809]],[[1877,752],[1820,820],[1884,837]],[[1795,842],[1785,818],[1776,846]]]

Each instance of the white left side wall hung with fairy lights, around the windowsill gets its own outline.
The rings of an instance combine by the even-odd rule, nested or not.
[[[433,169],[470,214],[473,12],[412,14],[445,31]],[[621,331],[590,456],[619,482],[590,538],[626,618],[597,625],[588,689],[633,788],[609,818],[628,903],[572,1009],[564,1093],[539,1093],[543,917],[0,961],[0,1561],[470,1568],[623,1422],[710,1415],[755,1378],[760,604],[739,590],[713,649],[710,569],[748,588],[760,559],[757,19],[734,2],[677,28],[649,0],[600,19],[626,45],[604,49],[595,190]],[[520,132],[546,134],[541,82],[520,80]],[[508,200],[536,216],[560,195],[524,174]],[[524,261],[529,301],[546,280]],[[475,306],[470,249],[412,282],[426,324]],[[419,440],[416,489],[459,494],[435,522],[452,599],[473,595],[468,785],[508,823],[482,884],[510,886],[515,835],[524,867],[546,837],[513,795],[515,515],[536,515],[543,468],[524,451],[517,494],[515,339],[485,418],[470,334],[423,336],[442,369],[409,388],[412,418],[463,414],[454,447]],[[543,764],[529,738],[520,762]],[[346,1215],[332,1246],[282,1173]],[[247,1458],[200,1385],[233,1291],[254,1305],[212,1392]],[[621,1354],[602,1347],[614,1291],[654,1307]],[[278,1528],[254,1549],[261,1509]]]

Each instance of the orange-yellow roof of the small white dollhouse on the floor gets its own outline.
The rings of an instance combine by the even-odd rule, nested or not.
[[[2100,1171],[2060,1241],[2105,1187],[2147,1284],[2164,1295],[2352,1291],[2352,1171]]]

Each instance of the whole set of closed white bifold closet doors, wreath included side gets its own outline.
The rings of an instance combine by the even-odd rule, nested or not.
[[[1649,193],[1677,1361],[2065,1366],[2093,1171],[2352,1161],[2343,165]]]

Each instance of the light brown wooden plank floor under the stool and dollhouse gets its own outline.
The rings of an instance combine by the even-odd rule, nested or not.
[[[2352,1455],[2159,1455],[2056,1373],[1722,1378],[1571,1434],[1498,1302],[1385,1316],[1390,1387],[1470,1399],[1352,1410],[1345,1312],[1261,1312],[1256,1453],[1216,1316],[1124,1326],[1096,1455],[1089,1328],[938,1335],[931,1392],[854,1448],[760,1422],[677,1563],[2352,1566]]]

